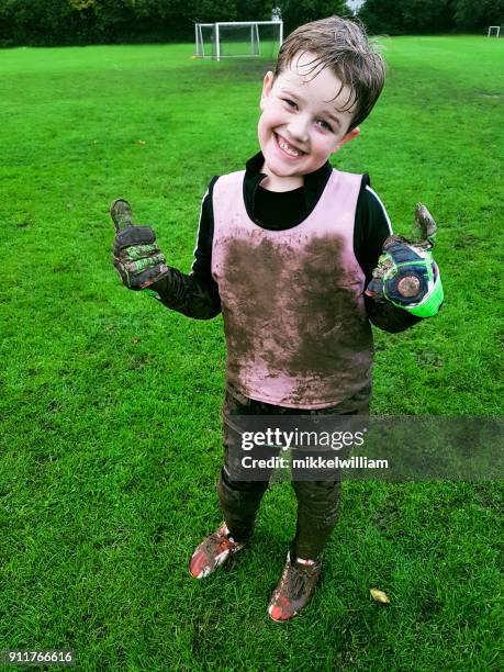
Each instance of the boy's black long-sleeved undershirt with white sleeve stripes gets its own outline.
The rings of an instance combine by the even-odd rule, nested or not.
[[[305,175],[304,184],[299,189],[276,192],[260,186],[266,178],[260,171],[262,165],[264,156],[260,152],[247,161],[243,193],[249,217],[258,226],[270,231],[287,229],[300,224],[317,204],[333,170],[326,161],[318,170]],[[212,178],[201,203],[190,275],[170,268],[169,273],[152,287],[167,307],[197,320],[209,320],[221,312],[219,287],[211,271],[214,227],[212,197],[217,179],[219,176]],[[366,173],[357,201],[354,227],[354,254],[366,276],[366,284],[371,280],[383,243],[391,234],[387,211],[371,189]],[[365,296],[365,301],[370,322],[387,332],[402,332],[419,321],[391,303],[377,303],[369,296]]]

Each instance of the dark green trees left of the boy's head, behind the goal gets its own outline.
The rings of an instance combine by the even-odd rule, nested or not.
[[[0,46],[186,42],[197,22],[270,21],[273,7],[284,34],[349,14],[344,0],[0,0]]]

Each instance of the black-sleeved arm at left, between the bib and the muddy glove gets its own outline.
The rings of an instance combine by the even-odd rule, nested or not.
[[[150,289],[167,307],[195,320],[210,320],[221,312],[219,287],[212,277],[213,206],[212,192],[217,177],[203,197],[198,226],[194,261],[189,275],[168,267],[168,272]]]

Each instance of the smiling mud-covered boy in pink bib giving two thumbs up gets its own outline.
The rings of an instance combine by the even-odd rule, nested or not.
[[[367,415],[370,322],[400,332],[434,315],[443,300],[428,255],[389,238],[390,221],[369,177],[328,163],[358,136],[383,80],[382,58],[356,23],[332,16],[287,38],[275,74],[264,79],[260,152],[245,171],[210,182],[189,276],[166,265],[149,227],[121,229],[131,211],[125,201],[113,204],[114,265],[126,287],[149,288],[190,317],[221,311],[224,317],[225,458],[217,493],[225,522],[195,549],[190,573],[197,579],[249,540],[268,486],[233,478],[231,417]],[[403,275],[416,273],[404,293],[397,264]],[[268,608],[277,621],[307,604],[339,505],[339,480],[293,485],[296,534]]]

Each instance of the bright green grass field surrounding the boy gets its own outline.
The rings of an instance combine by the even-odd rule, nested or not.
[[[499,415],[504,41],[383,49],[382,99],[335,165],[371,175],[400,233],[418,200],[435,214],[446,306],[376,333],[373,412]],[[187,573],[220,522],[222,318],[123,289],[108,208],[127,198],[188,271],[208,182],[257,150],[269,64],[191,54],[0,52],[0,649],[71,648],[85,671],[502,669],[499,482],[345,483],[323,581],[287,626],[266,606],[288,483],[231,571]]]

